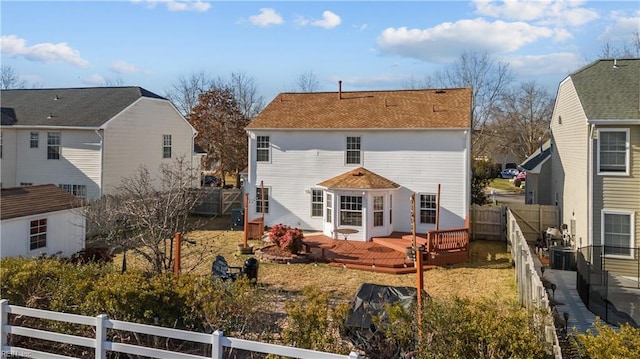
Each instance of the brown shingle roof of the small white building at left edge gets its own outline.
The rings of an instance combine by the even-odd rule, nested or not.
[[[11,219],[82,206],[82,200],[53,184],[10,187],[0,191],[0,219]]]

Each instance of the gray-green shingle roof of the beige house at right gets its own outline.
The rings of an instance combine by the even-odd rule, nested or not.
[[[589,120],[640,119],[640,59],[599,60],[570,77]]]

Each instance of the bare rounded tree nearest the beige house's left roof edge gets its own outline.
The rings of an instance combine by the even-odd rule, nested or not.
[[[535,82],[527,82],[501,96],[490,110],[487,146],[498,153],[512,153],[521,162],[549,139],[549,123],[555,99]]]

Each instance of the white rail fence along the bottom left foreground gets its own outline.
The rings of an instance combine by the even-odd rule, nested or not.
[[[9,323],[9,315],[27,316],[39,319],[55,320],[59,322],[87,325],[95,328],[95,338],[80,337],[45,331],[40,329],[16,326]],[[42,340],[49,340],[57,343],[65,343],[71,345],[93,348],[95,350],[96,359],[104,359],[107,352],[124,353],[131,355],[141,355],[158,359],[203,359],[214,358],[222,359],[224,348],[235,348],[239,350],[247,350],[251,352],[277,354],[292,358],[317,358],[317,359],[360,359],[358,353],[351,352],[349,355],[333,354],[318,352],[308,349],[300,349],[287,347],[284,345],[269,344],[255,342],[245,339],[225,337],[221,331],[215,331],[212,334],[190,332],[185,330],[163,328],[152,325],[136,324],[123,322],[119,320],[111,320],[106,315],[101,314],[97,317],[88,317],[76,314],[58,313],[48,310],[25,308],[16,305],[9,305],[6,299],[0,300],[0,343],[2,355],[33,358],[33,359],[62,359],[71,358],[68,356],[52,354],[42,351],[36,351],[29,348],[15,347],[8,344],[8,335],[21,335]],[[156,349],[150,347],[137,346],[132,344],[116,343],[108,340],[107,330],[122,330],[139,334],[153,335],[163,338],[173,338],[193,343],[210,344],[212,347],[211,356],[203,356],[197,354],[180,353],[165,349]]]

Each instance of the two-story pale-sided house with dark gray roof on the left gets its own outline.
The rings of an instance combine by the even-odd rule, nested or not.
[[[141,165],[153,175],[184,157],[199,168],[195,129],[169,100],[143,88],[2,90],[0,99],[4,187],[53,183],[97,198]]]

